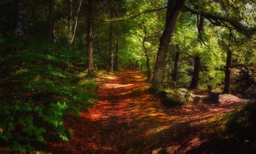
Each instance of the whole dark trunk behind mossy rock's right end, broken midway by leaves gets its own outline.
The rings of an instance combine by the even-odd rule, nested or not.
[[[201,34],[204,30],[204,17],[200,16],[198,23],[198,45],[202,45],[201,44]],[[199,56],[195,57],[195,65],[194,65],[194,73],[193,73],[193,77],[192,77],[192,81],[190,84],[190,88],[191,89],[195,89],[198,86],[198,82],[199,82],[199,74],[200,74],[200,63],[201,63],[201,58]]]

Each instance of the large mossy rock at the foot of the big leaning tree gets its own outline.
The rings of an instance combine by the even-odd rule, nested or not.
[[[191,93],[184,88],[179,89],[164,89],[159,91],[158,96],[162,102],[167,106],[182,106],[191,102]]]

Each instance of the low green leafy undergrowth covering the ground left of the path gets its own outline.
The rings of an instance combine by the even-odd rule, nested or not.
[[[1,40],[0,117],[5,120],[0,122],[0,140],[24,153],[52,138],[68,141],[65,115],[78,116],[96,100],[92,80],[63,70],[84,59],[78,51],[51,44]]]

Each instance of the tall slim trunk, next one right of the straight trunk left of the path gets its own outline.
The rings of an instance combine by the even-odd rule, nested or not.
[[[111,7],[110,9],[110,19],[114,19],[114,10],[113,8]],[[114,57],[114,54],[113,54],[113,42],[114,42],[114,36],[113,36],[113,23],[111,22],[110,23],[110,36],[109,36],[109,41],[110,41],[110,44],[109,44],[109,69],[108,71],[113,71],[113,57]]]

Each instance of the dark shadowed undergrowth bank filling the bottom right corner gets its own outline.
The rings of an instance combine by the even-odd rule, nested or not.
[[[191,153],[256,153],[256,102],[215,117],[212,138]]]

